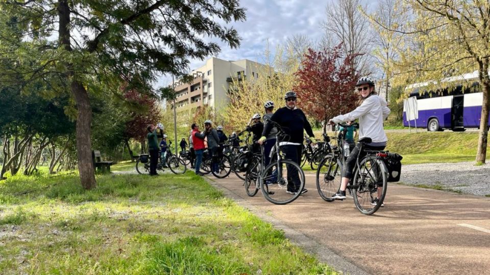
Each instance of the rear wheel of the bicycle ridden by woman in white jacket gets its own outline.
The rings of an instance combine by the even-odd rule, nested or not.
[[[383,161],[375,156],[366,156],[361,160],[354,174],[352,185],[354,203],[364,215],[375,213],[386,196],[387,169]],[[378,188],[380,196],[378,197]],[[376,200],[377,199],[377,200]]]

